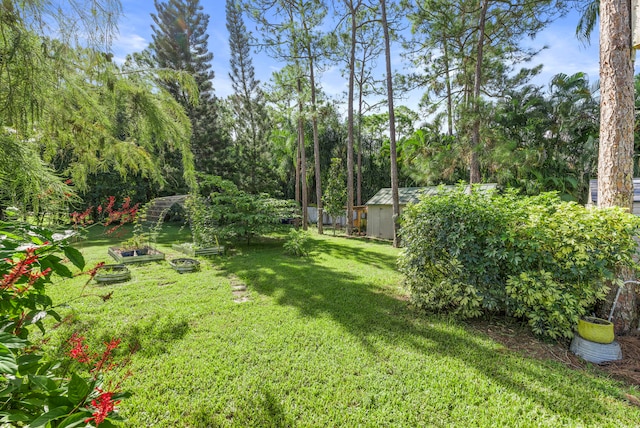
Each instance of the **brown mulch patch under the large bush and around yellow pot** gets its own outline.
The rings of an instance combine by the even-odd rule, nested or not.
[[[504,320],[473,320],[471,328],[485,333],[506,348],[529,357],[559,361],[582,370],[588,363],[569,351],[569,342],[544,342],[536,338],[524,325]],[[620,361],[599,364],[597,367],[629,385],[640,386],[640,336],[616,337],[622,348]],[[638,403],[640,405],[640,403]]]

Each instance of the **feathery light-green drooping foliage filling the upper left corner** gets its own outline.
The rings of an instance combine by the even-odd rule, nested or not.
[[[37,212],[43,200],[49,205],[86,191],[87,177],[105,171],[162,185],[155,153],[161,148],[182,155],[191,184],[188,118],[158,88],[156,71],[42,37],[14,12],[0,10],[0,139],[7,155],[0,157],[0,205]],[[173,73],[177,78],[188,81]],[[69,177],[73,188],[63,185]]]

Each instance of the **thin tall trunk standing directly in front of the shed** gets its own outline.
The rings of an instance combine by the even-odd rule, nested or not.
[[[391,152],[391,199],[393,200],[393,246],[398,247],[400,240],[400,196],[398,194],[398,159],[396,152],[396,117],[393,109],[393,76],[391,74],[391,43],[389,41],[389,24],[387,22],[386,0],[380,0],[382,12],[382,30],[384,31],[384,52],[387,63],[387,102],[389,103],[389,138]]]

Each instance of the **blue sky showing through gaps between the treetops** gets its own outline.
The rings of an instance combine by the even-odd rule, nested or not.
[[[209,50],[213,52],[213,69],[215,72],[214,88],[216,95],[226,97],[231,94],[231,82],[229,80],[229,47],[228,33],[225,21],[224,0],[203,0],[201,4],[204,12],[209,15]],[[122,61],[126,54],[138,52],[146,48],[151,40],[151,13],[155,13],[153,1],[149,0],[122,0],[124,17],[120,20],[120,35],[115,40],[113,50],[117,61]],[[530,65],[544,64],[543,72],[534,83],[548,85],[551,77],[557,73],[573,74],[579,71],[589,76],[590,82],[598,79],[598,40],[597,34],[592,38],[590,46],[584,46],[575,37],[575,27],[578,22],[578,14],[570,13],[565,18],[559,19],[549,26],[544,32],[532,40],[531,46],[543,50]],[[245,25],[252,29],[252,23],[245,20]],[[596,31],[597,32],[597,31]],[[253,56],[256,74],[260,80],[267,82],[271,73],[280,68],[280,65],[264,54]],[[383,62],[381,59],[380,63]],[[395,55],[393,68],[402,71],[405,62],[399,55]],[[346,81],[341,76],[338,67],[329,68],[321,75],[323,90],[331,95],[338,96],[346,90]],[[417,109],[420,94],[411,96],[410,99],[399,101],[410,108]]]

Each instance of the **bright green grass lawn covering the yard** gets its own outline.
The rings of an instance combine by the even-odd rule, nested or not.
[[[178,256],[170,244],[188,233],[164,231],[160,248]],[[94,235],[78,247],[109,262],[114,243]],[[133,265],[129,282],[90,284],[82,298],[86,277],[59,283],[51,295],[70,302],[60,312],[73,323],[50,345],[73,329],[138,348],[120,405],[131,427],[640,425],[629,387],[409,308],[389,245],[329,234],[313,248],[293,258],[264,240],[183,275]]]

